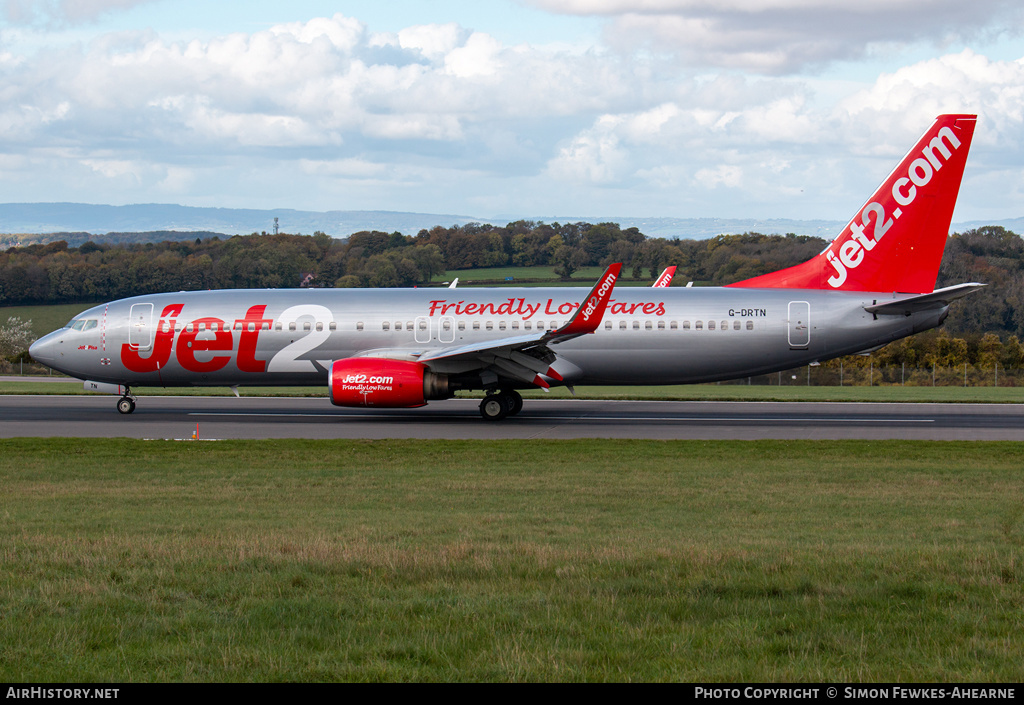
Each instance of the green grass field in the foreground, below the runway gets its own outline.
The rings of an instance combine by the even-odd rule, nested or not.
[[[1019,681],[1021,445],[0,441],[0,678]]]

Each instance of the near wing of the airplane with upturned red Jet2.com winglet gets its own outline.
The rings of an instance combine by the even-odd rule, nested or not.
[[[618,279],[622,266],[621,263],[616,263],[605,271],[594,288],[591,289],[590,294],[581,303],[572,319],[561,328],[529,335],[516,335],[498,340],[442,347],[423,354],[413,352],[411,355],[409,350],[393,350],[394,355],[392,356],[390,355],[391,350],[373,350],[370,354],[360,354],[360,357],[402,359],[412,357],[428,366],[432,362],[443,361],[446,364],[460,364],[466,369],[490,369],[499,376],[512,377],[547,388],[548,383],[540,375],[559,381],[562,379],[562,376],[551,367],[557,356],[549,345],[556,345],[597,330],[597,327],[601,325],[601,319],[604,318],[604,310],[611,298],[611,292],[615,287],[615,281]]]

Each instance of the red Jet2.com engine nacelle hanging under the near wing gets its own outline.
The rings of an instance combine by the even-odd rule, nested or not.
[[[339,407],[422,407],[444,399],[447,376],[422,363],[386,358],[349,358],[331,366],[331,403]]]

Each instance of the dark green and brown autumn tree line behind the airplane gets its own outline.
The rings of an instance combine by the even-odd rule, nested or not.
[[[806,261],[825,245],[821,238],[793,234],[669,240],[610,222],[528,220],[437,226],[415,236],[362,232],[345,240],[316,233],[90,241],[78,247],[58,241],[0,252],[0,306],[178,290],[424,286],[445,271],[498,266],[550,266],[570,280],[581,267],[612,261],[623,262],[624,275],[636,281],[650,281],[675,264],[676,285],[722,286]],[[976,341],[985,333],[1000,340],[1024,337],[1024,241],[1019,235],[999,226],[953,234],[937,286],[961,282],[989,286],[952,306],[945,326],[949,334]]]

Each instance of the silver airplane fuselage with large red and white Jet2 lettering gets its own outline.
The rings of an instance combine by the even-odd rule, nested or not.
[[[33,356],[129,386],[326,384],[331,363],[420,355],[562,326],[582,288],[297,289],[152,294],[94,306]],[[948,306],[872,315],[901,295],[621,287],[597,331],[552,346],[568,384],[679,384],[791,369],[939,325]],[[463,363],[436,361],[438,373]]]

